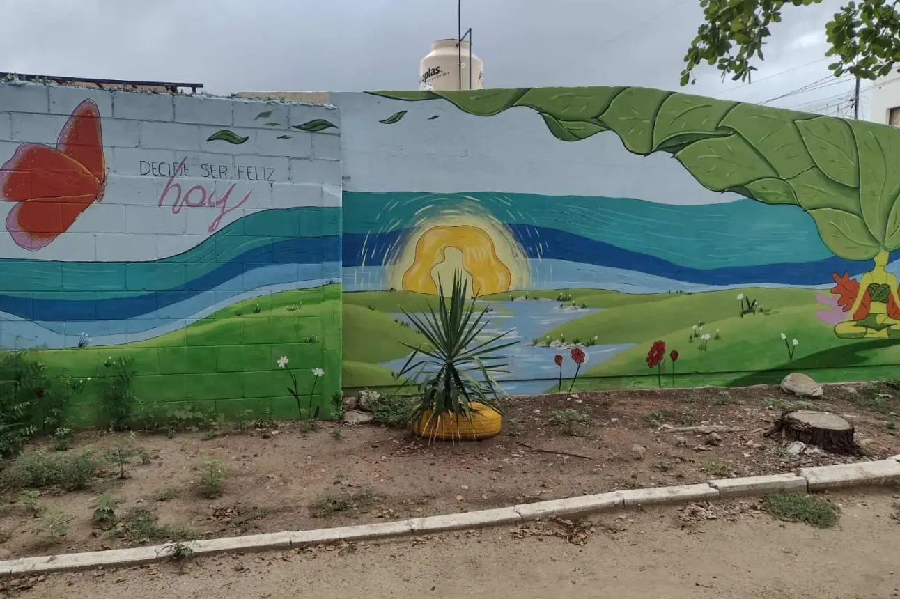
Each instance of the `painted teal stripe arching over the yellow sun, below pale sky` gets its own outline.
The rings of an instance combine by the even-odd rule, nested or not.
[[[344,192],[343,199],[347,235],[409,228],[422,219],[439,219],[442,212],[474,207],[504,223],[554,228],[689,268],[832,257],[806,212],[752,200],[678,206],[629,198],[495,192]]]

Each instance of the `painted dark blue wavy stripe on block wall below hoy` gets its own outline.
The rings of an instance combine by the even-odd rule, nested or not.
[[[40,299],[0,295],[0,311],[29,320],[118,320],[150,314],[222,283],[274,264],[318,264],[341,257],[340,237],[294,237],[256,247],[209,273],[166,291],[105,299]]]

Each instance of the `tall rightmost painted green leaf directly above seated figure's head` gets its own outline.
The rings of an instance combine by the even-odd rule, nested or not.
[[[863,121],[852,121],[850,126],[860,155],[862,218],[872,235],[884,242],[887,219],[900,194],[900,130]]]

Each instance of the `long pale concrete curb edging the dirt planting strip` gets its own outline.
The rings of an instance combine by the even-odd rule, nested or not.
[[[500,526],[549,516],[597,514],[638,505],[678,505],[692,501],[737,496],[761,496],[776,492],[805,493],[807,490],[870,487],[893,482],[900,482],[900,455],[888,460],[801,468],[797,475],[776,474],[749,478],[721,478],[698,485],[613,491],[599,495],[553,499],[477,512],[411,518],[398,522],[191,541],[184,543],[184,546],[193,550],[193,555],[196,557],[233,551],[286,550],[310,545],[388,540],[417,534]],[[103,568],[137,566],[170,559],[172,554],[173,546],[169,544],[136,549],[9,559],[0,561],[0,577],[84,570],[100,566]]]

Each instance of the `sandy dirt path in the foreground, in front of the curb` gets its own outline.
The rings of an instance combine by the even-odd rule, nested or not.
[[[896,497],[896,496],[895,496]],[[888,599],[900,596],[896,498],[842,494],[838,526],[781,523],[752,502],[603,514],[383,544],[215,556],[20,580],[45,599],[518,597]]]

